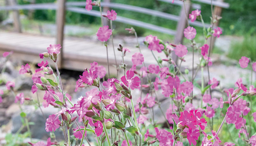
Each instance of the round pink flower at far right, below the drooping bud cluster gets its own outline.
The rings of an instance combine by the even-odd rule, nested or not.
[[[227,123],[235,124],[236,120],[239,118],[240,113],[241,112],[239,111],[239,108],[237,108],[236,106],[232,105],[231,107],[229,107],[227,110]]]

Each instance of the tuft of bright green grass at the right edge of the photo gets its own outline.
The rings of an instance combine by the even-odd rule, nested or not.
[[[239,60],[242,56],[256,61],[256,36],[246,35],[242,42],[233,41],[229,48],[228,57]]]

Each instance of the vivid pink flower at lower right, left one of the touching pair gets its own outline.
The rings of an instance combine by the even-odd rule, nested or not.
[[[196,118],[188,111],[184,111],[181,113],[181,116],[179,117],[179,121],[181,121],[182,126],[187,125],[189,127],[189,129],[196,128],[196,126],[195,126]]]

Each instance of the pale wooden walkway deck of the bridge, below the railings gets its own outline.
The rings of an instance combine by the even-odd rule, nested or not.
[[[41,62],[39,53],[47,52],[47,47],[50,44],[55,44],[56,38],[50,36],[39,36],[27,33],[13,33],[0,32],[0,53],[6,51],[13,51],[13,58],[28,61],[33,63]],[[117,47],[117,44],[115,44]],[[64,39],[64,54],[63,54],[63,68],[82,71],[84,68],[90,68],[90,63],[97,61],[99,64],[107,67],[106,48],[102,42],[88,41],[82,38],[65,38]],[[116,48],[115,48],[116,49]],[[139,52],[136,47],[128,47],[131,52],[127,52],[125,56],[125,63],[131,65],[131,58],[135,52]],[[156,64],[151,52],[143,47],[141,49],[144,60],[147,65]],[[112,44],[108,46],[108,55],[110,61],[111,72],[115,73],[115,58]],[[121,64],[121,52],[116,50],[116,57],[118,64]],[[156,57],[165,58],[164,53],[155,52]],[[197,58],[197,57],[196,57]],[[192,66],[192,55],[188,54],[185,57],[186,62],[183,66]],[[197,59],[195,60],[195,64]]]

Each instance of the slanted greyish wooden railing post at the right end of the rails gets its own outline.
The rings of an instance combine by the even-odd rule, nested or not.
[[[185,8],[187,13],[185,12]],[[188,18],[188,14],[190,13],[190,8],[191,8],[191,2],[190,0],[186,0],[185,1],[185,8],[184,5],[181,7],[181,13],[180,13],[180,18],[179,18],[179,22],[177,24],[177,30],[176,30],[176,35],[175,35],[175,39],[174,39],[174,44],[182,44],[183,42],[183,38],[184,38],[184,29],[187,26],[187,18]],[[187,14],[187,15],[186,15]],[[177,63],[177,55],[175,55],[174,52],[172,52],[171,57],[173,59],[173,61],[175,61]]]

